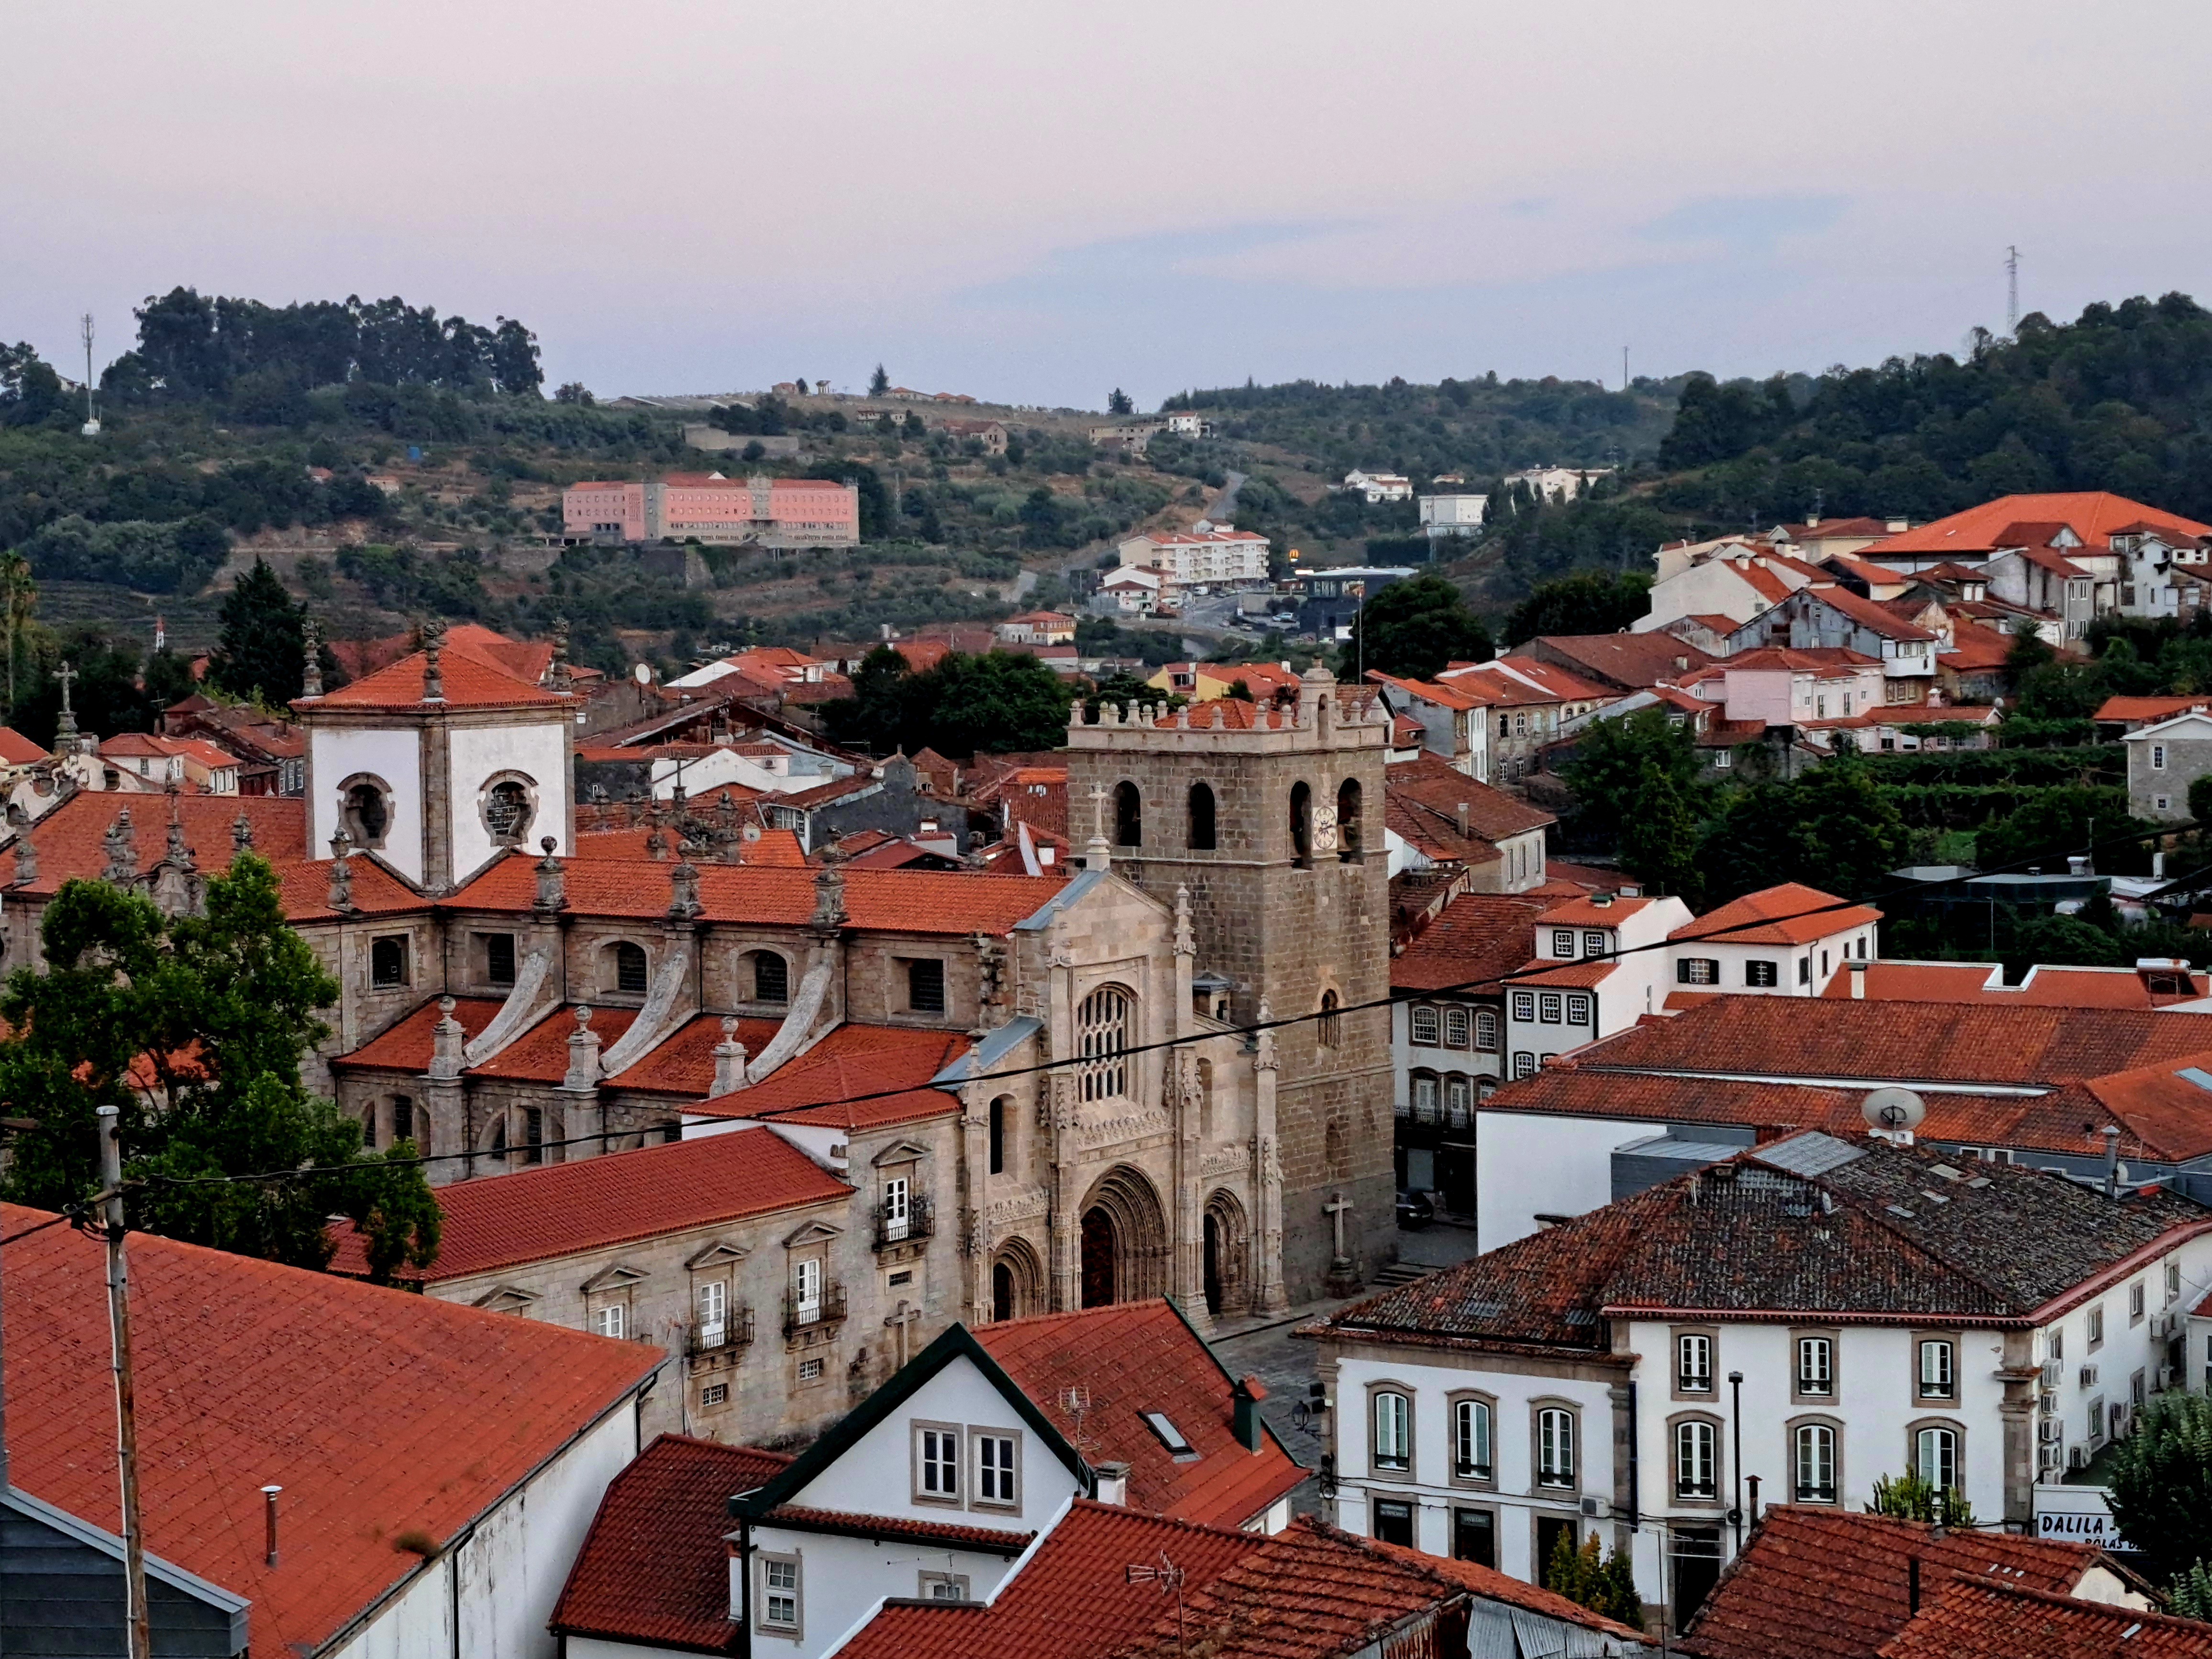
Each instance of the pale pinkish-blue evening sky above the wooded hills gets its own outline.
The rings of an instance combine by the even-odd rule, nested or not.
[[[549,385],[1818,372],[2212,303],[2201,4],[11,0],[0,341],[173,285]]]

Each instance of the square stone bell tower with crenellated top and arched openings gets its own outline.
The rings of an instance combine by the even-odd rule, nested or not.
[[[1197,969],[1230,980],[1230,1020],[1314,1015],[1274,1033],[1294,1303],[1349,1287],[1396,1221],[1389,1009],[1363,1006],[1389,995],[1387,748],[1380,699],[1347,699],[1321,666],[1292,708],[1108,706],[1086,723],[1077,703],[1068,726],[1073,838],[1095,807],[1117,874],[1166,905],[1188,889]]]

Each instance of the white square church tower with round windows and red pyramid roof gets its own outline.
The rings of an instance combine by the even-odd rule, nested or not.
[[[425,891],[449,894],[507,847],[573,849],[575,710],[555,659],[553,690],[445,644],[330,695],[307,657],[307,847],[374,852]]]

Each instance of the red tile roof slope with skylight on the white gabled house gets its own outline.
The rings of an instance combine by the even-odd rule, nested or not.
[[[975,1340],[1088,1462],[1128,1464],[1130,1509],[1234,1528],[1305,1480],[1272,1433],[1259,1451],[1237,1440],[1234,1380],[1166,1301],[1000,1321]],[[1082,1425],[1062,1407],[1075,1385],[1091,1389]],[[1197,1460],[1175,1462],[1139,1411],[1166,1413]]]

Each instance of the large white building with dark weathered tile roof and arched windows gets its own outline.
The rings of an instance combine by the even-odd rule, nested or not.
[[[2185,1380],[2208,1283],[2183,1199],[1807,1130],[1332,1316],[1336,1524],[1531,1582],[1595,1531],[1679,1628],[1668,1564],[1732,1555],[1752,1478],[1863,1506],[1918,1473],[2031,1528]]]

